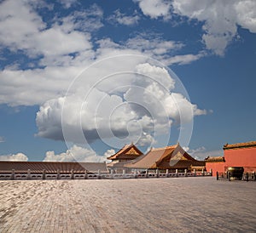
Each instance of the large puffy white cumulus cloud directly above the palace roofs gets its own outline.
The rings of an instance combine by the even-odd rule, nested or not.
[[[119,144],[134,141],[145,145],[154,142],[154,134],[167,132],[173,121],[182,124],[206,114],[183,94],[173,92],[175,80],[164,67],[136,65],[140,59],[131,56],[132,72],[128,72],[130,60],[126,56],[86,70],[73,83],[70,94],[41,105],[37,113],[38,136],[74,143],[115,138]],[[122,68],[125,72],[117,73]],[[92,79],[88,77],[91,72]]]

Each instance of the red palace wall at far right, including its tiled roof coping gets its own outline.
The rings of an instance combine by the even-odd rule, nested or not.
[[[207,157],[207,171],[212,174],[225,173],[229,167],[243,167],[244,172],[256,171],[256,141],[236,144],[226,144],[223,147],[223,157]]]

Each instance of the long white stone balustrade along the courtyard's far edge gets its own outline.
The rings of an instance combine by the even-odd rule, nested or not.
[[[0,173],[0,180],[31,180],[31,179],[147,179],[212,176],[212,173]]]

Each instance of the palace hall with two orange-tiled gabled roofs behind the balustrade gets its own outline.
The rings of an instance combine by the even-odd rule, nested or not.
[[[166,146],[163,148],[151,148],[148,153],[143,155],[133,144],[125,145],[120,151],[113,156],[108,157],[112,160],[108,163],[108,168],[116,172],[121,170],[146,170],[146,169],[169,169],[170,172],[175,172],[176,169],[180,172],[185,170],[196,171],[205,169],[204,161],[197,161],[188,152],[177,143],[177,145]]]

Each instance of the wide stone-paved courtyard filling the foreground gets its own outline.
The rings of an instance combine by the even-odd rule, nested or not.
[[[0,181],[0,232],[256,232],[256,182]]]

